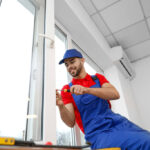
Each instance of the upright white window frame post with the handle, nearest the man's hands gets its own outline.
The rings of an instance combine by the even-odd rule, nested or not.
[[[56,144],[54,0],[46,0],[43,142]]]

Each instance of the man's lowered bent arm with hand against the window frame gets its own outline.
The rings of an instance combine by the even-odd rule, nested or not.
[[[74,107],[72,103],[64,105],[61,95],[56,91],[56,105],[59,108],[60,116],[64,123],[69,127],[74,127],[75,125],[75,114]]]

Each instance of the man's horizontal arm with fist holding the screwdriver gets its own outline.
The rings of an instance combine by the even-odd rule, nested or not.
[[[92,94],[106,100],[115,100],[120,98],[118,91],[110,83],[104,83],[101,88],[87,88],[81,85],[73,85],[70,91],[76,95]]]

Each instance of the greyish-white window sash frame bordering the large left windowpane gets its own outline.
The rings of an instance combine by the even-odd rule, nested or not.
[[[26,4],[26,0],[21,0]],[[32,0],[35,6],[34,35],[26,124],[26,140],[39,141],[43,136],[45,0]],[[30,7],[28,7],[31,9]]]

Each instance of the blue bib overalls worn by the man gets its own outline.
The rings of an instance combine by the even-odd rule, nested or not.
[[[101,87],[98,78],[92,78],[96,84],[90,88]],[[72,96],[80,112],[85,139],[91,143],[92,149],[150,150],[150,132],[112,112],[106,100],[90,94]]]

